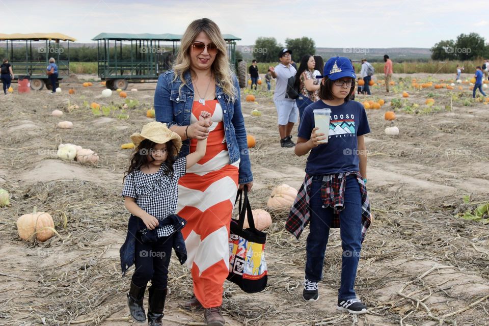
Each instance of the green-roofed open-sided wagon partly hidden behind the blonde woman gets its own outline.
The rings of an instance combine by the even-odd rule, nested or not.
[[[224,34],[230,62],[235,65],[236,41]],[[171,69],[182,35],[101,33],[97,41],[98,76],[108,89],[125,90],[129,82],[156,82]]]

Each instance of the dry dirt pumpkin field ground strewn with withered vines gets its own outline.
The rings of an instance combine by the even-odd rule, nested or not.
[[[287,212],[282,211],[272,212],[274,223],[267,230],[268,287],[246,294],[226,282],[226,324],[489,324],[489,231],[483,223],[487,219],[456,216],[489,201],[489,105],[471,101],[468,84],[461,85],[463,91],[458,85],[453,91],[415,91],[407,86],[413,77],[439,80],[452,75],[395,74],[394,80],[399,77],[409,79],[408,101],[419,105],[418,113],[397,109],[394,122],[384,120],[390,101],[401,98],[403,86],[389,95],[373,87],[373,95],[360,96],[362,101],[386,101],[380,110],[367,110],[368,191],[375,220],[363,244],[356,289],[369,313],[355,316],[335,310],[341,269],[339,230],[330,235],[319,301],[303,300],[308,229],[300,239],[293,238],[284,229]],[[119,195],[130,150],[120,145],[153,120],[146,117],[146,110],[153,105],[156,84],[130,84],[127,98],[137,99],[138,105],[95,116],[87,103],[117,106],[124,99],[117,93],[101,98],[102,85],[93,82],[84,88],[81,80],[87,76],[79,79],[62,83],[58,95],[46,90],[18,94],[16,85],[13,94],[0,95],[4,141],[0,187],[10,192],[12,202],[0,208],[2,325],[133,323],[125,296],[133,268],[121,277],[119,260],[129,216]],[[70,88],[75,94],[68,94]],[[428,96],[436,100],[431,112],[424,104]],[[253,108],[262,116],[251,116]],[[52,117],[55,109],[63,116]],[[306,157],[280,147],[270,94],[258,92],[256,103],[243,100],[242,110],[247,131],[257,142],[250,154],[255,180],[252,206],[265,208],[274,186],[300,187]],[[58,128],[63,120],[72,121],[73,128]],[[397,137],[384,133],[390,125],[399,127]],[[100,160],[96,166],[60,160],[56,155],[60,143],[90,148]],[[464,195],[470,195],[469,204]],[[34,206],[53,216],[62,238],[34,243],[18,237],[17,217]],[[180,308],[192,295],[188,271],[175,257],[170,266],[165,324],[203,325],[201,312]]]

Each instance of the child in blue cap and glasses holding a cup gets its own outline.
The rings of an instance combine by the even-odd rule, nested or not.
[[[343,249],[341,285],[337,309],[355,314],[367,312],[354,290],[360,249],[370,225],[370,206],[365,188],[367,156],[363,135],[370,132],[365,110],[349,100],[355,90],[355,71],[347,58],[335,57],[324,66],[320,101],[304,111],[295,154],[310,152],[306,178],[289,213],[286,229],[299,237],[311,223],[306,244],[306,275],[303,297],[318,300],[324,252],[330,228],[340,228]],[[330,108],[328,134],[316,133],[316,109]],[[321,140],[327,143],[320,143]]]

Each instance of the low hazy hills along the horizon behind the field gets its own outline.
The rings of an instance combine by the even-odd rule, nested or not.
[[[251,51],[247,51],[252,45],[236,45],[236,50],[241,51],[244,60],[253,59]],[[242,51],[242,48],[247,50]],[[388,55],[395,61],[410,61],[410,60],[430,60],[431,51],[428,48],[416,47],[391,47],[391,48],[334,48],[334,47],[317,47],[315,55],[320,55],[323,58],[330,57],[348,57],[351,60],[357,61],[362,58],[367,58],[371,62],[383,61],[384,55]],[[294,61],[299,61],[300,58],[294,58]]]

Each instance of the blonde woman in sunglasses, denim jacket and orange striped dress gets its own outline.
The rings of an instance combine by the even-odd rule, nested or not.
[[[186,309],[204,308],[207,325],[222,326],[223,284],[229,274],[229,226],[237,189],[253,186],[239,85],[226,42],[212,20],[188,25],[172,70],[161,74],[154,95],[156,121],[183,141],[179,156],[207,138],[205,156],[179,180],[177,214],[192,270],[194,297]],[[200,112],[212,114],[199,121]]]

